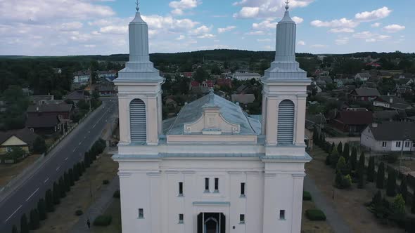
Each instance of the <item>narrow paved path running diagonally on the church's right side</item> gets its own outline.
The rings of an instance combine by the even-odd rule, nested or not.
[[[337,213],[333,206],[328,203],[326,197],[321,194],[320,190],[317,188],[314,180],[308,176],[304,179],[304,190],[312,194],[314,204],[321,209],[327,216],[328,224],[333,228],[336,233],[350,233],[352,232],[349,225],[343,218]]]

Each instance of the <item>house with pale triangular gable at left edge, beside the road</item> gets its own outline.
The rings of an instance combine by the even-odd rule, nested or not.
[[[28,154],[36,138],[37,134],[29,128],[0,131],[0,155],[12,152],[15,147],[20,147]]]

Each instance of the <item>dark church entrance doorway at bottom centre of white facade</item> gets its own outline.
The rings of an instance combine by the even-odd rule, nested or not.
[[[226,218],[223,213],[199,213],[198,233],[226,233]]]

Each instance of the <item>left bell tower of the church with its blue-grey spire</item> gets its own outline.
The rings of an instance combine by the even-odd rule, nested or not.
[[[118,87],[120,151],[122,145],[157,145],[162,134],[161,84],[164,79],[148,54],[148,25],[141,18],[139,1],[129,23],[129,62],[114,80]]]

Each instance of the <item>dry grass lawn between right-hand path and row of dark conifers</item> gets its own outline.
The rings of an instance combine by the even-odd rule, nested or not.
[[[378,220],[370,213],[364,203],[371,201],[373,193],[376,192],[373,183],[367,183],[365,189],[357,189],[356,184],[352,184],[351,189],[334,189],[334,169],[326,166],[324,161],[326,154],[314,147],[311,153],[313,160],[306,164],[306,173],[316,182],[321,193],[330,202],[341,217],[350,225],[352,232],[376,232],[376,233],[399,233],[404,230],[381,225]],[[334,190],[334,199],[332,199]]]

